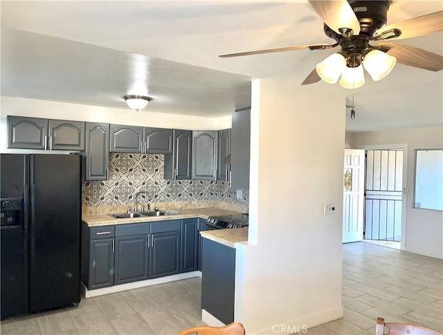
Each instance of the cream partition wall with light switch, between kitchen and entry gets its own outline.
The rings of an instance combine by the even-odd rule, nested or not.
[[[254,80],[249,244],[236,316],[248,333],[280,334],[343,315],[345,97]],[[336,206],[323,215],[323,203]],[[291,330],[290,330],[291,329]]]

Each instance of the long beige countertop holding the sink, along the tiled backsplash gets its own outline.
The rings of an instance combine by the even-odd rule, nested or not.
[[[159,217],[131,217],[127,219],[115,219],[109,215],[86,215],[82,217],[82,221],[89,227],[96,226],[109,226],[114,224],[135,224],[137,222],[155,222],[155,221],[165,221],[165,220],[176,220],[176,219],[190,219],[192,217],[200,217],[201,219],[208,219],[210,216],[214,215],[232,215],[239,214],[238,212],[233,212],[231,210],[223,210],[219,208],[190,208],[181,209],[178,214],[174,215],[161,215]],[[235,229],[228,229],[235,230]],[[247,240],[247,239],[246,239]]]

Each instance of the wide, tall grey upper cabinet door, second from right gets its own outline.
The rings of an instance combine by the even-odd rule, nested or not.
[[[216,179],[217,131],[192,132],[192,179]]]

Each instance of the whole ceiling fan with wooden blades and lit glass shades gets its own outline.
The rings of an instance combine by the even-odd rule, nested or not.
[[[406,39],[437,33],[443,30],[443,10],[408,19],[386,26],[387,14],[392,0],[308,0],[325,22],[323,30],[334,44],[305,44],[284,48],[271,48],[242,53],[229,53],[219,57],[237,57],[278,53],[301,49],[325,50],[340,47],[317,64],[302,85],[314,84],[320,79],[340,84],[347,89],[361,87],[364,82],[363,67],[373,80],[381,80],[396,62],[419,69],[440,71],[443,56],[405,44],[381,42],[390,39]],[[374,42],[377,44],[370,44]],[[381,43],[379,43],[381,42]],[[363,65],[363,66],[362,66]]]

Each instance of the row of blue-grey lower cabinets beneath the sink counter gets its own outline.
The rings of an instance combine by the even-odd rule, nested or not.
[[[87,289],[199,269],[203,219],[115,226],[82,224],[82,282]]]

